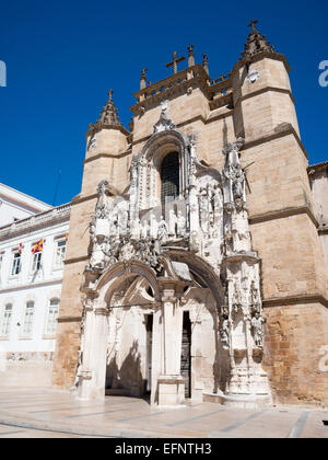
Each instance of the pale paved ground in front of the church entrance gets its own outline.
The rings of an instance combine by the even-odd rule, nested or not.
[[[137,398],[85,402],[48,389],[0,389],[0,438],[328,438],[325,419],[327,410],[304,406],[153,409]]]

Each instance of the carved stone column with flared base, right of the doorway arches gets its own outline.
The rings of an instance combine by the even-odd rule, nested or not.
[[[262,349],[251,333],[250,286],[259,290],[259,258],[253,253],[225,257],[229,286],[229,321],[231,377],[226,387],[225,404],[258,406],[270,402],[267,373],[261,366]]]

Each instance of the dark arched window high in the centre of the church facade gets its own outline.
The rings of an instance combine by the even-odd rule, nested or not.
[[[180,192],[179,154],[168,153],[161,166],[161,202],[162,205],[174,200]]]

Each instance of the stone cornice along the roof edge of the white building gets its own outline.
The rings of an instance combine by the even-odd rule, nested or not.
[[[54,225],[56,221],[69,220],[71,212],[71,204],[58,206],[48,211],[37,214],[17,222],[0,228],[0,241],[7,238],[12,238],[16,234],[33,231],[39,227]]]

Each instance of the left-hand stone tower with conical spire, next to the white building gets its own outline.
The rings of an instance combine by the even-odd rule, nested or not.
[[[86,133],[86,153],[81,193],[72,199],[70,238],[65,266],[54,367],[54,384],[68,389],[74,383],[81,341],[80,286],[89,258],[89,226],[96,204],[96,189],[107,177],[114,193],[128,184],[131,150],[129,131],[121,125],[113,101],[114,91],[98,120]]]

